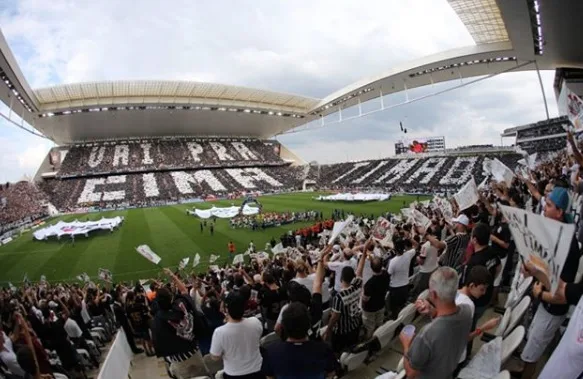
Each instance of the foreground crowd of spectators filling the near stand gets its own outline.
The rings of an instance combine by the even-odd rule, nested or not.
[[[379,335],[387,325],[400,323],[404,314],[421,314],[431,321],[419,331],[407,326],[397,332],[404,370],[410,377],[451,377],[472,357],[468,341],[500,322],[482,316],[500,305],[499,288],[513,281],[520,265],[521,275],[537,279],[531,291],[537,301],[518,375],[535,377],[567,304],[582,306],[575,277],[581,257],[576,238],[583,240],[583,227],[571,237],[559,287],[551,292],[549,278],[518,259],[497,204],[572,222],[569,192],[583,192],[583,155],[569,140],[573,156],[557,154],[511,185],[490,181],[472,207],[458,210],[452,203],[455,217],[449,222],[439,207],[418,204],[428,226],[386,214],[390,234],[373,239],[376,220],[360,215],[328,241],[333,219],[348,217],[337,210],[333,219],[319,215],[318,223],[298,231],[299,238],[291,233],[290,243],[272,241],[272,254],[253,253],[243,264],[210,266],[200,274],[166,269],[168,280],[153,280],[149,288],[45,282],[3,289],[2,369],[21,377],[56,371],[77,377],[95,364],[99,340],[120,326],[135,353],[142,352],[134,341],[139,338],[176,378],[206,375],[213,361],[222,362],[227,378],[323,377],[350,368],[342,353],[364,351],[374,359],[386,345]],[[581,361],[566,352],[577,348],[572,325],[582,320],[579,309],[569,321],[574,334],[564,335],[539,378],[580,374]]]

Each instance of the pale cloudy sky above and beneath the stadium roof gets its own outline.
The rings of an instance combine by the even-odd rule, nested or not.
[[[473,44],[446,0],[3,0],[0,26],[32,88],[194,80],[323,98],[395,65]],[[553,77],[542,72],[551,117]],[[395,94],[385,104],[404,100]],[[372,101],[364,110],[379,106]],[[544,118],[536,73],[510,73],[278,140],[305,161],[330,163],[394,154],[399,121],[410,137],[444,136],[456,147],[499,145],[503,129]],[[51,146],[0,121],[0,182],[34,175]]]

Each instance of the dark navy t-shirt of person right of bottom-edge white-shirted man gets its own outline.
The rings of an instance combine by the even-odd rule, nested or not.
[[[261,371],[278,379],[324,379],[337,367],[332,349],[324,342],[278,341],[267,347]]]

